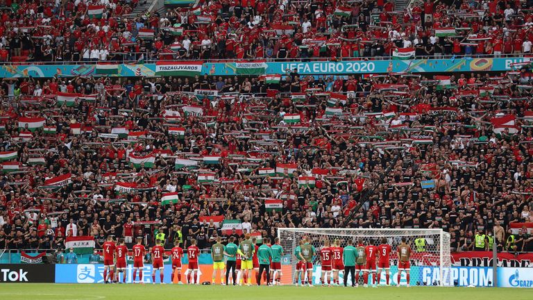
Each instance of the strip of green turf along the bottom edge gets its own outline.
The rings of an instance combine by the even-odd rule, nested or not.
[[[308,287],[234,287],[220,285],[96,285],[0,283],[0,299],[17,300],[99,300],[99,299],[326,299],[344,300],[363,297],[364,300],[513,300],[533,299],[530,289],[509,288],[308,288]]]

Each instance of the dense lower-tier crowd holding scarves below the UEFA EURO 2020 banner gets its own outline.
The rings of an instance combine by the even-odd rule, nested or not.
[[[221,232],[199,217],[223,215],[268,238],[278,227],[444,228],[452,250],[472,250],[480,232],[531,251],[509,228],[533,221],[528,68],[4,80],[0,249],[56,249],[71,235],[153,245],[158,232],[206,248]],[[197,88],[220,94],[197,99]]]

